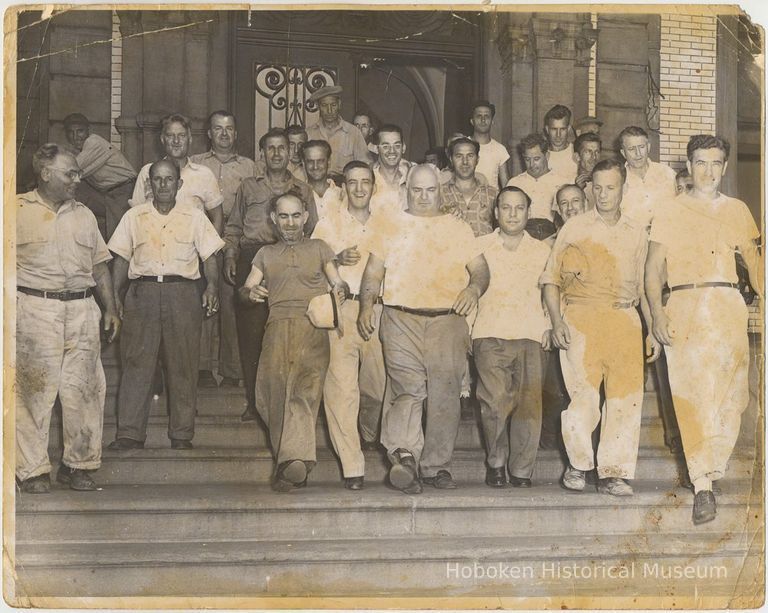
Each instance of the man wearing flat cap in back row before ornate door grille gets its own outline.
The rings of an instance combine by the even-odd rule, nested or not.
[[[328,174],[341,175],[344,166],[352,160],[368,162],[368,146],[365,138],[354,125],[344,121],[341,111],[340,85],[326,85],[314,92],[309,101],[317,104],[320,121],[307,127],[310,140],[324,140],[331,146]]]

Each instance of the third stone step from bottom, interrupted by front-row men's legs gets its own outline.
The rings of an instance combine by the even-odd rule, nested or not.
[[[382,482],[388,465],[383,452],[365,452],[366,479]],[[757,468],[753,451],[739,449],[731,457],[728,478],[748,479]],[[339,481],[341,470],[335,455],[328,449],[317,450],[318,463],[310,476],[314,482]],[[102,484],[162,483],[267,483],[273,472],[269,450],[251,448],[206,448],[191,450],[140,449],[114,452],[104,450],[102,467],[95,479]],[[560,452],[540,450],[533,479],[556,483],[562,476],[564,463]],[[460,481],[481,483],[485,478],[485,453],[480,449],[456,450],[451,472]],[[641,448],[636,478],[674,482],[679,478],[678,459],[666,449]]]

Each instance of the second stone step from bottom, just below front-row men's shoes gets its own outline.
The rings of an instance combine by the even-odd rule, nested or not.
[[[404,495],[369,483],[362,492],[310,483],[278,494],[253,483],[109,486],[93,493],[57,488],[52,496],[21,495],[16,542],[231,541],[375,537],[546,537],[573,534],[658,534],[692,530],[692,493],[668,482],[636,481],[635,495],[617,498],[559,485],[528,490],[460,483]],[[727,480],[715,521],[698,526],[742,535],[750,481]],[[513,519],[513,521],[510,521]],[[735,537],[734,537],[735,538]]]

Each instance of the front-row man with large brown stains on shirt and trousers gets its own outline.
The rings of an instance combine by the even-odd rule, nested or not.
[[[592,432],[600,424],[598,491],[613,496],[633,493],[626,480],[634,478],[640,443],[643,338],[638,303],[650,321],[643,292],[647,234],[622,213],[625,173],[615,160],[595,166],[595,209],[571,218],[560,229],[541,276],[552,341],[561,350],[571,397],[562,414],[569,460],[562,484],[569,490],[584,489],[585,473],[595,467]],[[648,344],[652,361],[659,345],[650,335]]]

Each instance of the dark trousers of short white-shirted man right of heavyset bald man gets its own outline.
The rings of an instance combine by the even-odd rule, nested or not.
[[[478,338],[472,347],[488,466],[529,479],[541,434],[541,343]]]

